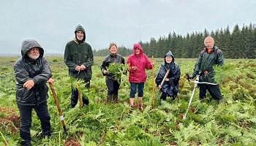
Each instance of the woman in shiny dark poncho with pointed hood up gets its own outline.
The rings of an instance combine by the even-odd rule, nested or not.
[[[167,71],[170,69],[169,74]],[[165,74],[167,77],[165,78],[165,82],[161,85],[162,80],[164,80]],[[160,91],[162,91],[162,95],[160,97],[160,104],[162,100],[166,100],[167,96],[175,97],[178,94],[178,81],[181,77],[181,69],[178,64],[174,62],[173,53],[169,52],[165,55],[165,62],[161,64],[157,77],[156,84]]]

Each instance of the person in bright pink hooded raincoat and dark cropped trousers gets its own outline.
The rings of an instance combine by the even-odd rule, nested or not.
[[[143,49],[140,44],[133,46],[133,54],[129,55],[127,64],[129,64],[129,82],[130,82],[130,93],[129,103],[130,107],[134,106],[135,93],[138,88],[138,102],[139,107],[142,106],[144,83],[146,82],[146,71],[145,69],[152,69],[154,61],[149,61],[148,56],[143,53]]]

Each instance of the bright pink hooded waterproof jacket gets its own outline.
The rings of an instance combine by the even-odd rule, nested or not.
[[[140,54],[136,54],[136,48],[140,49]],[[146,54],[143,53],[143,49],[140,44],[133,46],[133,54],[129,55],[127,64],[129,64],[129,82],[146,82],[147,75],[145,69],[152,69],[151,62]],[[135,70],[132,67],[135,66]]]

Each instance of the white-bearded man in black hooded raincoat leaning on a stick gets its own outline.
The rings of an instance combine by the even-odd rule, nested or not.
[[[42,136],[50,136],[50,115],[48,112],[48,86],[53,83],[44,50],[34,39],[26,39],[21,47],[21,57],[14,64],[16,78],[16,101],[20,111],[21,145],[31,145],[30,128],[32,109],[41,121]]]

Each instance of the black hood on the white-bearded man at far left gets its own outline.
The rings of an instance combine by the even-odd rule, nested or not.
[[[26,57],[26,53],[32,48],[38,47],[39,48],[39,58],[44,55],[44,49],[39,45],[39,43],[35,39],[26,39],[23,41],[21,46],[21,55]]]

